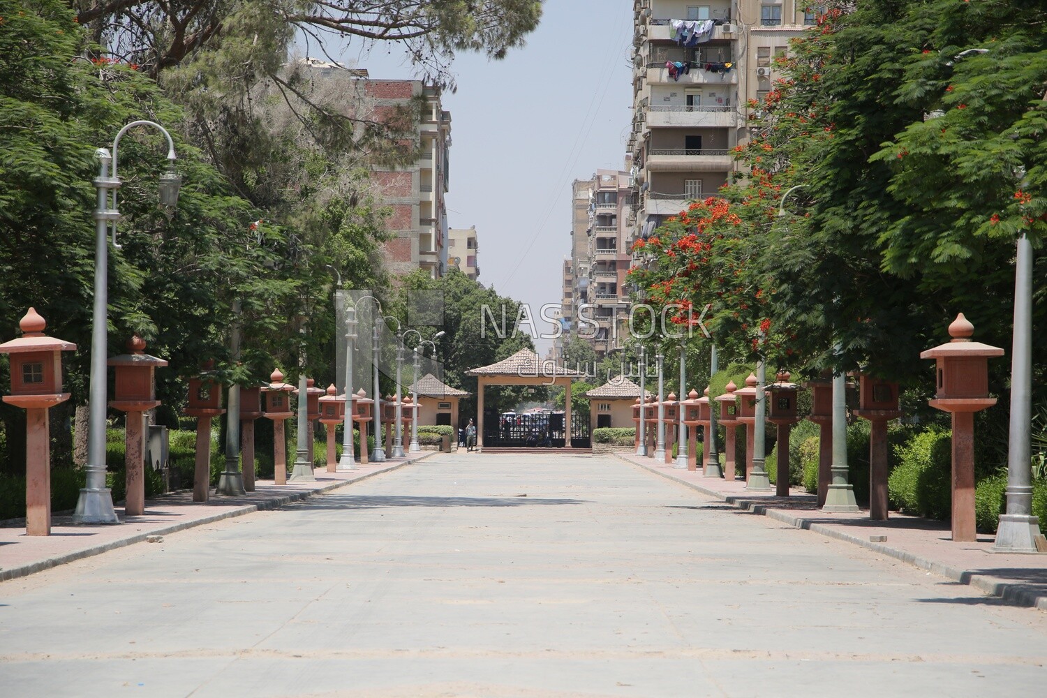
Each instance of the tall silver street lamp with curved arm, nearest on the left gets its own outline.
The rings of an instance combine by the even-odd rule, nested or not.
[[[87,487],[80,491],[76,500],[76,511],[73,514],[75,523],[119,523],[116,512],[113,511],[113,495],[106,487],[106,407],[107,380],[106,355],[109,303],[109,243],[108,231],[112,228],[113,244],[116,244],[116,222],[120,212],[116,208],[116,189],[120,186],[117,176],[116,153],[120,138],[129,129],[136,126],[151,126],[159,129],[168,139],[168,172],[160,176],[160,205],[173,208],[178,204],[178,189],[181,178],[175,174],[175,143],[171,134],[155,121],[138,120],[128,123],[113,139],[113,150],[110,153],[105,148],[94,152],[99,160],[98,176],[94,180],[97,189],[97,203],[94,209],[94,309],[91,318],[91,387],[89,398],[89,420],[87,433]],[[109,176],[109,165],[113,165],[112,177]],[[112,207],[110,207],[112,193]]]

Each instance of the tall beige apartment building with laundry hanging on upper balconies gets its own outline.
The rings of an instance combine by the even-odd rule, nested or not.
[[[634,1],[632,239],[728,182],[731,150],[749,135],[748,100],[771,90],[774,57],[815,23],[807,7],[797,0]],[[701,26],[697,43],[680,41],[681,21]]]

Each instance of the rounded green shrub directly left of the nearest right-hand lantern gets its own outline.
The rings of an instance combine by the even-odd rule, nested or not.
[[[952,511],[952,433],[932,427],[895,449],[891,501],[906,514],[948,519]]]

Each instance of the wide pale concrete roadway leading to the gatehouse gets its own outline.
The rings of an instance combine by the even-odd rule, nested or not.
[[[614,457],[440,454],[0,584],[0,685],[1039,695],[1045,618]]]

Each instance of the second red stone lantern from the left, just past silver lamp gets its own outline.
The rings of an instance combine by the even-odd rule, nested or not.
[[[127,343],[130,354],[109,359],[116,380],[109,406],[127,412],[124,429],[124,463],[127,496],[124,513],[141,516],[146,513],[144,450],[142,448],[141,414],[159,406],[156,399],[156,369],[168,362],[144,353],[146,340],[134,335]]]

